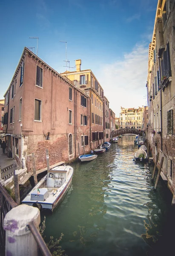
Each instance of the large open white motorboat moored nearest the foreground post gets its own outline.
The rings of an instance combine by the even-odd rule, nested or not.
[[[22,204],[53,211],[68,191],[73,173],[71,166],[54,167],[34,186]]]

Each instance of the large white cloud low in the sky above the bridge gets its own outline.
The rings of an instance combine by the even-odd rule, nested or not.
[[[148,45],[144,44],[137,44],[123,55],[123,59],[98,70],[98,80],[116,117],[120,106],[138,108],[145,105],[147,70]]]

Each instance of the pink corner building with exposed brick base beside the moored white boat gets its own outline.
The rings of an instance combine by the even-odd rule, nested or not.
[[[72,161],[90,151],[90,100],[26,47],[5,95],[4,127],[9,154],[36,169]]]

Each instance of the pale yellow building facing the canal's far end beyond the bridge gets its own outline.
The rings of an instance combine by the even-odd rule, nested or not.
[[[122,108],[120,111],[120,128],[141,129],[143,126],[144,107]]]

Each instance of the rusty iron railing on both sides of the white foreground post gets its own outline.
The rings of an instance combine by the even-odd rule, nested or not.
[[[0,252],[5,255],[6,231],[3,229],[4,218],[12,208],[17,207],[17,203],[11,198],[6,189],[0,184]],[[34,222],[29,223],[29,229],[43,256],[52,256],[45,241]]]

